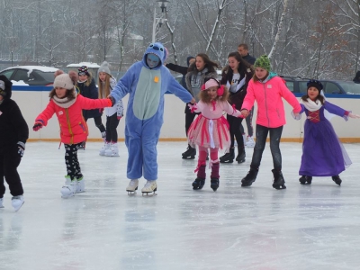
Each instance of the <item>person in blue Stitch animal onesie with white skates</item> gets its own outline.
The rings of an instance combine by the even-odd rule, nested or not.
[[[193,96],[163,65],[165,59],[165,47],[159,42],[151,43],[143,59],[128,69],[109,95],[112,102],[117,103],[130,94],[125,119],[125,144],[129,152],[128,193],[138,189],[141,176],[148,180],[142,193],[157,191],[157,140],[164,122],[166,91],[184,103],[195,103]]]

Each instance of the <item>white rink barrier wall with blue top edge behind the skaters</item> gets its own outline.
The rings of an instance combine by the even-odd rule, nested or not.
[[[49,120],[48,126],[35,132],[31,128],[42,110],[45,109],[49,103],[49,91],[52,87],[49,86],[30,86],[30,85],[14,85],[12,98],[18,103],[23,112],[23,117],[29,125],[29,140],[28,141],[59,141],[59,127],[56,115]],[[302,94],[295,94],[300,99]],[[129,94],[126,95],[122,102],[124,104],[124,117],[126,117],[126,110],[128,105]],[[360,114],[359,102],[360,95],[356,94],[330,94],[327,95],[327,100],[334,103],[345,110]],[[160,132],[161,141],[185,141],[185,121],[184,121],[183,103],[174,94],[165,95],[165,113],[164,124]],[[302,142],[303,139],[303,124],[305,121],[305,114],[302,114],[300,121],[295,121],[291,116],[292,107],[284,101],[285,115],[287,123],[284,125],[282,141],[284,142]],[[255,112],[253,117],[253,125],[256,125],[257,104],[255,104]],[[106,117],[103,115],[103,124],[106,122]],[[89,141],[102,141],[100,131],[95,127],[94,120],[87,121],[89,127]],[[341,117],[334,117],[331,120],[339,139],[342,142],[356,143],[360,142],[360,120],[349,119],[344,121]],[[247,131],[246,123],[243,121],[243,126]],[[118,126],[119,140],[124,140],[125,121],[121,119]]]

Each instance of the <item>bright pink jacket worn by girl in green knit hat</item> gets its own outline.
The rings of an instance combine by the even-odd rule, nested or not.
[[[273,76],[265,82],[254,82],[254,79],[251,79],[241,110],[250,111],[257,101],[257,124],[267,128],[278,128],[286,123],[283,97],[293,107],[293,112],[302,110],[299,101],[281,77]]]

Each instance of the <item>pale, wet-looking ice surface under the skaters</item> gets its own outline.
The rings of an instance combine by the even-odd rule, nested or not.
[[[345,144],[353,161],[340,176],[299,184],[302,144],[282,143],[286,190],[272,187],[268,143],[257,181],[240,187],[247,160],[220,165],[220,188],[209,177],[193,191],[197,160],[183,160],[186,142],[158,143],[157,196],[125,191],[127,149],[100,157],[88,142],[78,157],[85,193],[62,199],[64,148],[29,142],[19,172],[24,199],[0,209],[0,269],[228,270],[359,269],[360,144]],[[210,175],[210,170],[207,170]],[[139,189],[145,184],[140,180]],[[7,187],[7,185],[6,185]]]

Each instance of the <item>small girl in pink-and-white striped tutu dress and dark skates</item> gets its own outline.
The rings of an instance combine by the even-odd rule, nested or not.
[[[193,189],[202,189],[205,184],[205,168],[208,148],[210,148],[211,166],[211,188],[216,191],[219,187],[219,159],[218,151],[224,149],[229,152],[230,136],[229,123],[222,115],[227,112],[229,115],[238,117],[241,112],[231,107],[228,103],[229,92],[219,81],[210,78],[201,87],[199,103],[190,105],[192,112],[202,112],[190,126],[187,134],[189,145],[199,147],[199,161],[195,172],[197,177],[193,181]]]

